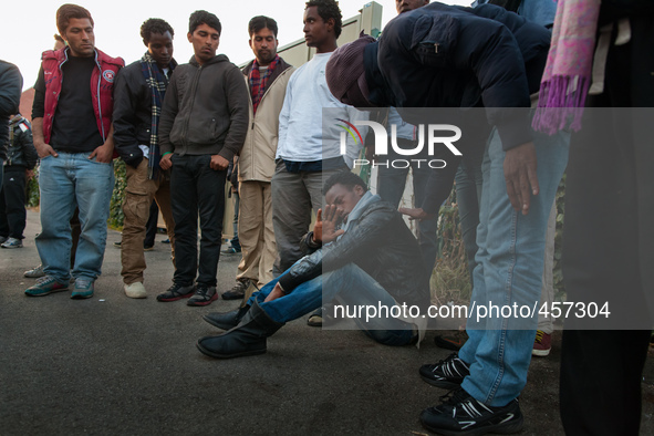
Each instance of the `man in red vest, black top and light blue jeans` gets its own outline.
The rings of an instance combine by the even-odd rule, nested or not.
[[[79,207],[82,235],[71,298],[90,298],[106,245],[114,186],[113,87],[124,61],[95,49],[93,18],[86,9],[62,6],[56,27],[66,46],[43,53],[32,106],[34,146],[41,157],[42,231],[37,247],[45,276],[25,294],[41,297],[69,288],[69,221]]]

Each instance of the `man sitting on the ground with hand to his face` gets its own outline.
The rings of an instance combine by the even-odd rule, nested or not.
[[[402,215],[351,172],[330,176],[323,191],[324,214],[319,209],[313,231],[301,242],[309,255],[253,293],[245,308],[206,315],[229,331],[200,339],[200,352],[217,359],[264,353],[266,338],[334,299],[340,302],[334,318],[354,319],[382,344],[407,345],[423,336],[429,283]]]

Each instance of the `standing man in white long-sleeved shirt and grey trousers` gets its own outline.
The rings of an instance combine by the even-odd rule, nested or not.
[[[315,48],[311,61],[299,68],[287,86],[279,116],[279,144],[272,176],[272,222],[279,259],[274,273],[298,261],[300,239],[309,231],[311,209],[322,206],[321,188],[325,178],[349,170],[357,147],[341,155],[341,129],[334,123],[322,126],[323,107],[333,107],[335,118],[354,120],[366,115],[339,102],[325,80],[325,65],[336,50],[341,34],[341,11],[334,0],[311,0],[304,10],[304,40]],[[329,124],[329,125],[328,125]],[[361,129],[360,129],[361,131]]]

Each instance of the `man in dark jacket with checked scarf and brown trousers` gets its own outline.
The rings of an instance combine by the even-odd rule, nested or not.
[[[141,27],[147,52],[121,71],[114,94],[114,141],[125,160],[127,186],[123,212],[123,288],[129,298],[146,298],[144,240],[153,199],[164,216],[173,264],[175,220],[170,209],[170,175],[159,168],[159,117],[168,81],[177,62],[173,59],[175,32],[166,21],[150,18]],[[158,211],[157,211],[158,215]]]

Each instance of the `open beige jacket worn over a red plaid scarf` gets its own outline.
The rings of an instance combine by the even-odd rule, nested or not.
[[[252,71],[252,62],[243,68],[246,84]],[[252,96],[248,92],[250,123],[246,142],[238,160],[239,181],[268,181],[274,174],[274,154],[279,134],[279,113],[284,102],[287,84],[295,69],[280,58],[272,75],[268,79],[268,87],[253,114]]]

